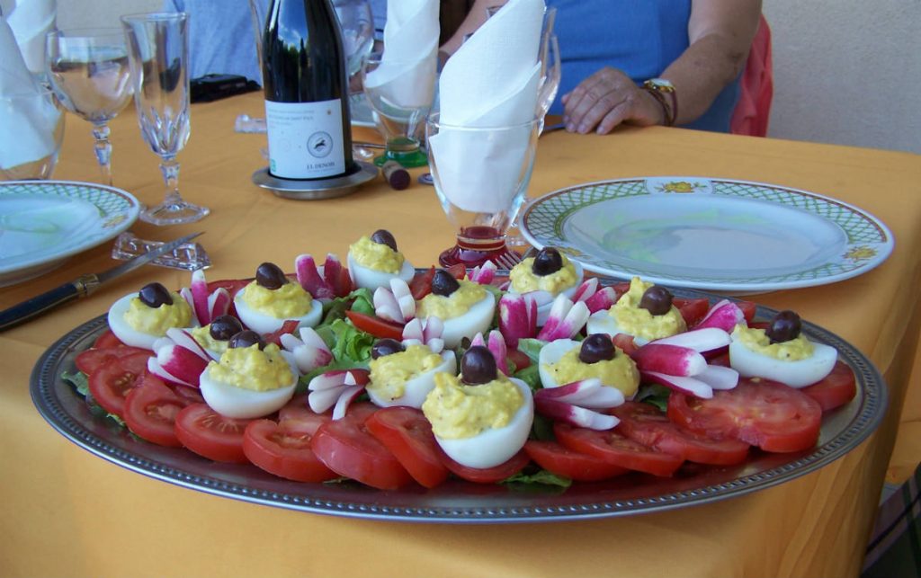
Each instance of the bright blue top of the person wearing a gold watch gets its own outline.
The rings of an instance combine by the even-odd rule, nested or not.
[[[691,0],[547,0],[547,6],[556,7],[554,32],[563,61],[551,114],[563,114],[560,97],[601,67],[623,70],[641,84],[661,75],[689,44]],[[737,78],[685,128],[729,133],[739,94]]]

